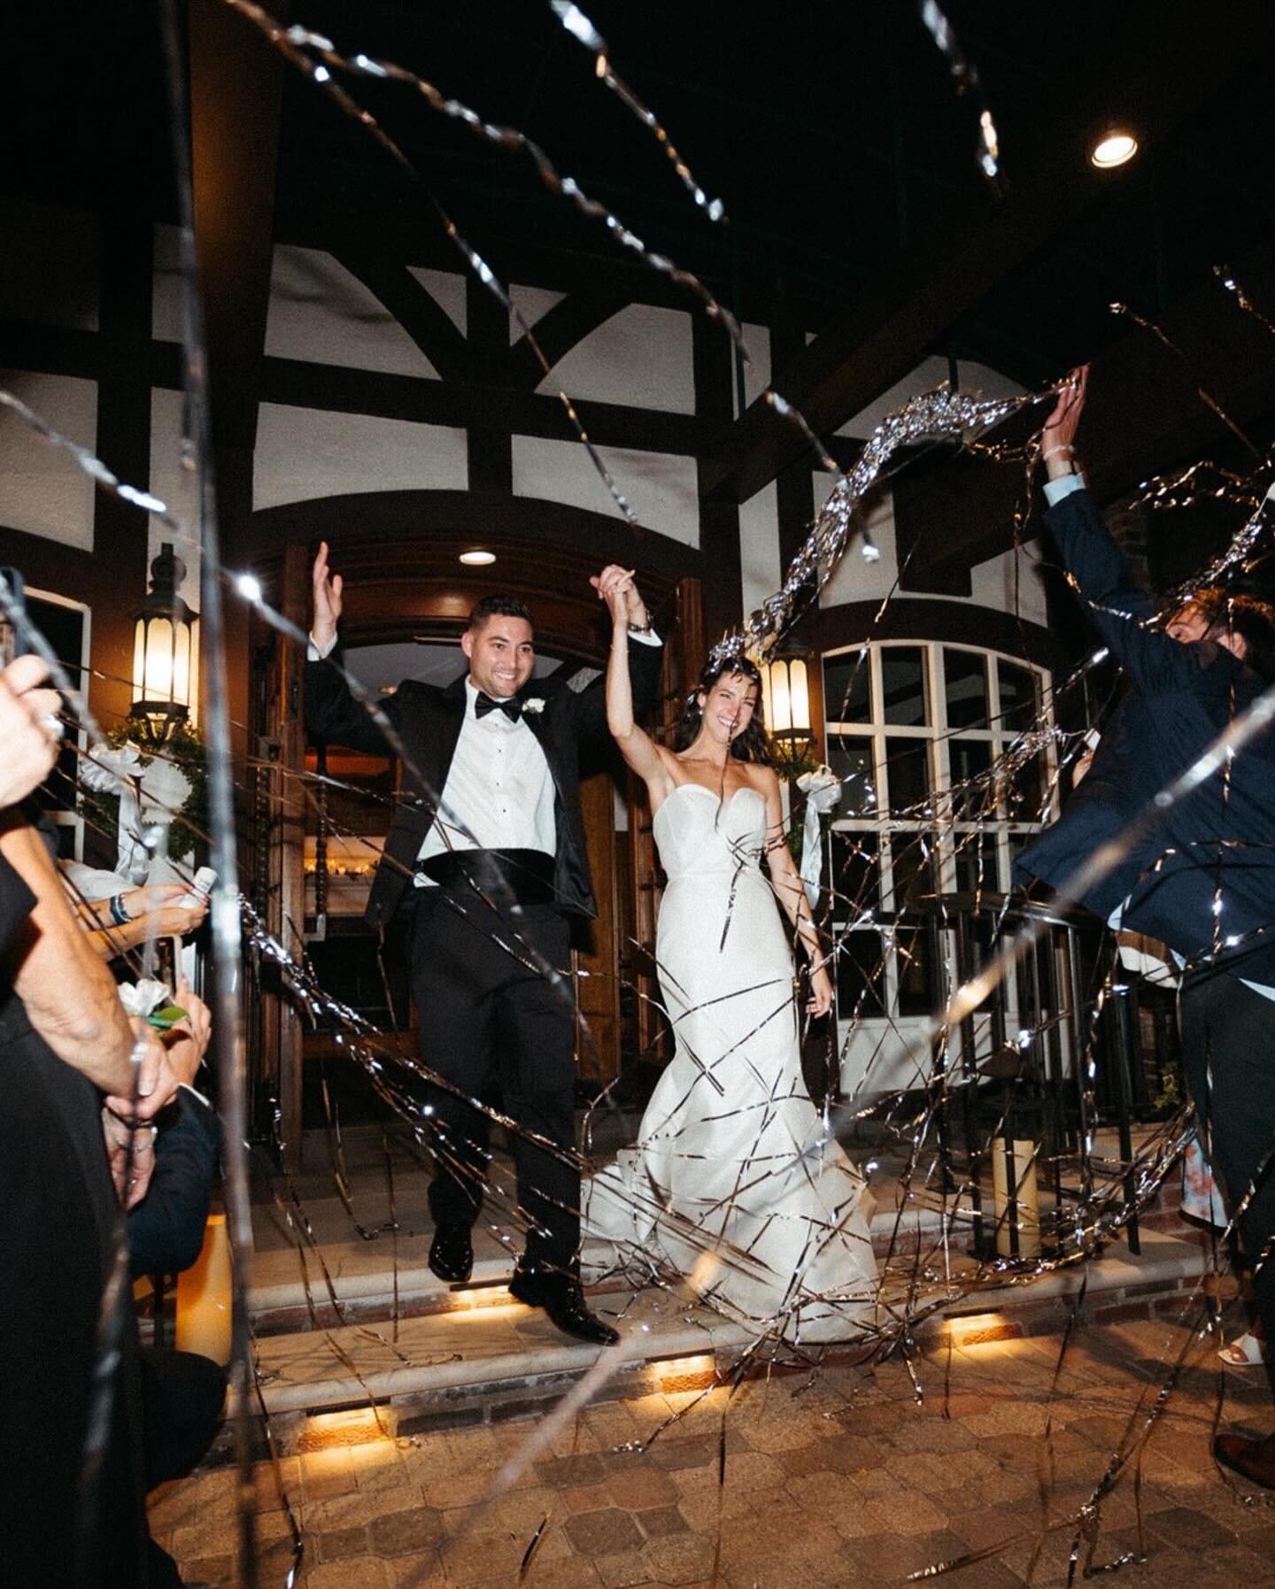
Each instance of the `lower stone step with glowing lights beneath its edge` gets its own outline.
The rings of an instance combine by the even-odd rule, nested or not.
[[[1186,1308],[1207,1255],[1196,1243],[1146,1231],[1141,1255],[1113,1243],[1086,1268],[1056,1270],[1025,1286],[960,1295],[954,1287],[919,1333],[951,1330],[962,1344],[1060,1328],[1087,1278],[1084,1317],[1148,1317]],[[353,1282],[355,1276],[348,1276]],[[598,1347],[563,1336],[537,1309],[515,1303],[499,1281],[450,1289],[447,1311],[377,1324],[264,1336],[258,1341],[262,1395],[285,1451],[356,1438],[375,1419],[399,1435],[545,1411],[599,1359]],[[685,1390],[714,1382],[739,1360],[754,1332],[652,1287],[593,1292],[622,1347],[591,1398]],[[819,1349],[854,1360],[863,1344]],[[769,1355],[769,1354],[766,1354]],[[806,1359],[801,1367],[809,1368]],[[375,1411],[374,1411],[375,1403]]]

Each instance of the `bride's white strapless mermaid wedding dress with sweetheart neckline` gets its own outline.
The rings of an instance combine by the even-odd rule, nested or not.
[[[852,1336],[874,1311],[870,1197],[801,1079],[792,952],[760,866],[766,802],[682,783],[653,831],[677,1050],[638,1142],[585,1182],[583,1273],[671,1268],[789,1340]]]

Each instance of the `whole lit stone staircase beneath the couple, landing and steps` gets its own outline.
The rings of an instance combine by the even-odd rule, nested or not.
[[[355,1217],[375,1225],[388,1206],[383,1168],[362,1162],[347,1171]],[[313,1241],[304,1241],[304,1260],[296,1206],[289,1222],[288,1200],[270,1197],[256,1204],[250,1306],[262,1395],[281,1451],[366,1438],[367,1425],[377,1422],[409,1435],[533,1416],[547,1411],[598,1363],[596,1347],[571,1341],[537,1309],[510,1298],[510,1255],[482,1227],[475,1231],[471,1282],[447,1286],[429,1273],[424,1184],[420,1171],[399,1176],[399,1230],[369,1241],[359,1238],[332,1193],[331,1174],[308,1174],[297,1187],[313,1235]],[[930,1255],[932,1268],[941,1262],[940,1214],[905,1208],[900,1217],[889,1206],[889,1182],[879,1198],[887,1206],[879,1206],[873,1219],[878,1255],[892,1251],[903,1271],[917,1249]],[[970,1263],[954,1239],[948,1254],[951,1301],[935,1306],[917,1333],[951,1330],[968,1343],[1059,1330],[1075,1308],[1083,1276],[1083,1317],[1091,1322],[1188,1308],[1208,1252],[1173,1204],[1175,1195],[1167,1192],[1143,1219],[1140,1255],[1119,1239],[1084,1271],[1060,1268],[1027,1286],[970,1295],[960,1295],[960,1276]],[[940,1289],[927,1284],[925,1290],[935,1295]],[[709,1386],[719,1370],[738,1363],[754,1344],[744,1325],[676,1289],[599,1289],[591,1300],[622,1332],[622,1346],[590,1387],[593,1400]],[[852,1362],[863,1355],[863,1343],[819,1352],[824,1360]],[[758,1354],[758,1371],[763,1367],[809,1371],[809,1357],[785,1354],[776,1362],[766,1349]]]

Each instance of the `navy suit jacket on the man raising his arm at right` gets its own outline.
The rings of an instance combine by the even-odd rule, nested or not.
[[[1122,833],[1265,685],[1221,645],[1183,645],[1140,626],[1154,605],[1134,583],[1087,491],[1065,496],[1044,521],[1129,680],[1067,810],[1016,864],[1019,879],[1057,887],[1105,839]],[[1205,779],[1151,825],[1083,903],[1103,920],[1124,906],[1122,926],[1162,939],[1189,961],[1275,987],[1275,734],[1259,733],[1229,772]]]

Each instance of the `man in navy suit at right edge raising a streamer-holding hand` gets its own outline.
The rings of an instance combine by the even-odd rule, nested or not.
[[[1275,679],[1275,609],[1265,602],[1205,590],[1153,621],[1151,597],[1076,472],[1086,378],[1076,372],[1044,427],[1046,524],[1129,691],[1062,820],[1019,858],[1021,876],[1054,887],[1143,815]],[[1275,1176],[1261,1176],[1275,1147],[1275,733],[1262,729],[1164,812],[1083,903],[1168,944],[1184,968],[1186,1079],[1232,1209],[1259,1177],[1238,1222],[1256,1263],[1275,1231]],[[1275,1260],[1258,1268],[1254,1297],[1275,1340]],[[1215,1449],[1275,1487],[1275,1436],[1223,1435]]]

